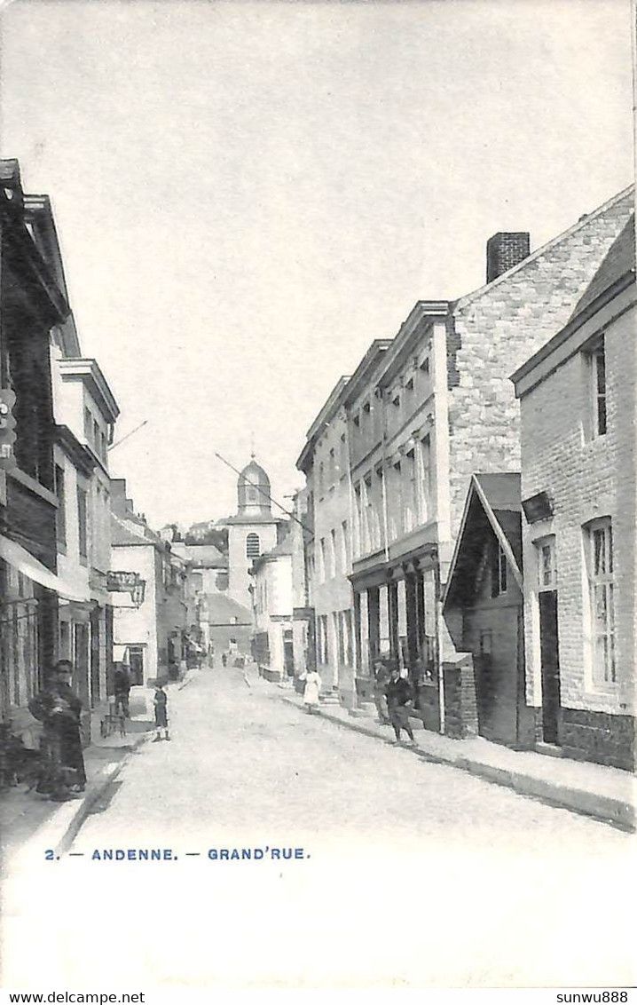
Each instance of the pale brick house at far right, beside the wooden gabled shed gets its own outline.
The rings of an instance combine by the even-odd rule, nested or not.
[[[634,765],[635,235],[514,373],[521,406],[526,700],[540,742]]]

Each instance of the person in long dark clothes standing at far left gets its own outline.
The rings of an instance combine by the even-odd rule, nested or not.
[[[82,705],[70,685],[71,673],[70,660],[59,659],[46,687],[29,701],[31,715],[44,727],[45,770],[36,791],[50,795],[55,802],[83,792],[86,785],[80,733]],[[67,784],[64,769],[73,772],[71,786]]]

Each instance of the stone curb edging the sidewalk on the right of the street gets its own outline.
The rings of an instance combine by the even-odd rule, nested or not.
[[[283,701],[300,711],[298,702],[293,698],[285,695],[280,695],[280,697]],[[343,727],[345,730],[353,730],[355,733],[361,733],[363,736],[373,737],[375,740],[381,740],[385,744],[390,744],[389,740],[379,736],[376,731],[370,730],[360,722],[348,723],[338,716],[331,716],[329,712],[324,712],[321,709],[315,715],[327,719],[331,723],[335,723],[337,726]],[[538,799],[549,806],[559,806],[573,813],[593,817],[621,830],[634,832],[636,829],[635,807],[631,803],[624,802],[621,799],[613,799],[611,796],[590,792],[587,789],[575,789],[569,785],[548,782],[542,778],[535,778],[533,775],[522,775],[519,772],[509,771],[506,768],[498,768],[496,765],[482,761],[472,761],[461,755],[458,758],[450,758],[420,748],[405,747],[403,749],[411,751],[411,753],[415,754],[422,761],[444,765],[448,768],[458,768],[460,771],[465,771],[468,774],[475,775],[477,778],[481,778],[484,782],[512,789],[520,796]]]

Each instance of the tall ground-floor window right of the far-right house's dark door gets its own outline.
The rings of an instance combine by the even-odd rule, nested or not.
[[[595,521],[585,529],[591,614],[593,680],[614,684],[615,603],[613,584],[613,529],[610,519]]]

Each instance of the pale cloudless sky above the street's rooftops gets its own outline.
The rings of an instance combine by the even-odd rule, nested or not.
[[[159,527],[284,506],[339,378],[632,180],[629,0],[13,0],[3,157],[53,205],[111,453]]]

